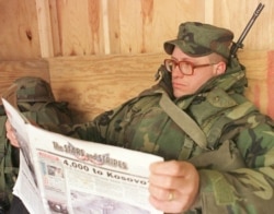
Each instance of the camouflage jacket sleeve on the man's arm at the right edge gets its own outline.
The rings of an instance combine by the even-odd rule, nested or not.
[[[270,213],[274,210],[274,124],[249,118],[233,140],[246,166],[232,170],[201,169],[202,213]]]

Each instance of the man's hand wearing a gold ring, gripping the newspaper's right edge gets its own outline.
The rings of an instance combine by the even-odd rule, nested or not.
[[[187,162],[158,162],[150,165],[149,201],[164,213],[187,211],[197,199],[199,176]]]

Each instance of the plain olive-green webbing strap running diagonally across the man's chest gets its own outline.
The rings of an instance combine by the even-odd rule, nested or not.
[[[199,129],[197,123],[173,102],[171,102],[165,94],[162,94],[160,106],[170,116],[170,118],[198,144],[199,147],[208,150],[206,146],[206,135]]]

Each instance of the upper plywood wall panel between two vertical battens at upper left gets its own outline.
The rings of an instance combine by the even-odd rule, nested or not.
[[[104,52],[100,0],[56,1],[61,56]]]

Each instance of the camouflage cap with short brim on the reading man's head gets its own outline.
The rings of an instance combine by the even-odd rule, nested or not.
[[[178,38],[163,44],[167,54],[171,55],[179,47],[191,57],[203,57],[212,52],[229,58],[233,33],[229,29],[198,22],[186,22],[179,26]]]

